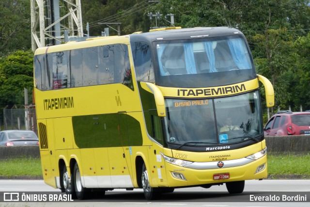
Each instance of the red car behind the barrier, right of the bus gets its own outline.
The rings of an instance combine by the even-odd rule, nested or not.
[[[279,111],[265,125],[264,135],[310,135],[310,111]]]

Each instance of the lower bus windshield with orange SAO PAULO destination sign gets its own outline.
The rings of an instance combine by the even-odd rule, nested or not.
[[[263,133],[258,96],[255,91],[214,99],[166,99],[167,143],[201,146],[255,139]]]

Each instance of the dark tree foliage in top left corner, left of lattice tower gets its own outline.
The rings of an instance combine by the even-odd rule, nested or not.
[[[0,1],[0,56],[31,48],[30,0]]]

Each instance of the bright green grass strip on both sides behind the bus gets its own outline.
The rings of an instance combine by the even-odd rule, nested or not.
[[[290,175],[310,178],[310,154],[268,155],[268,175]],[[38,158],[0,159],[0,176],[42,176],[41,161]]]

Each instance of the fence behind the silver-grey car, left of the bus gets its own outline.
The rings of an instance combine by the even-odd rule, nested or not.
[[[13,106],[11,109],[3,109],[3,123],[1,130],[26,129],[32,130],[37,134],[37,123],[34,105]]]

